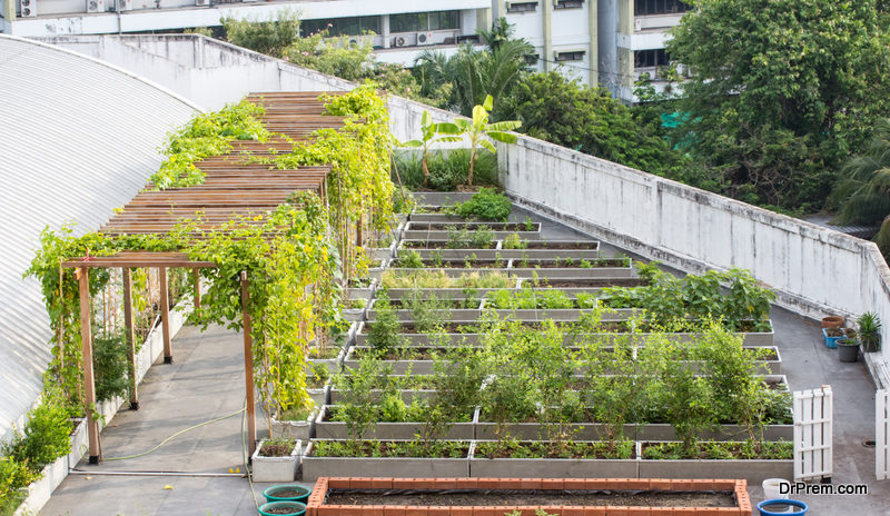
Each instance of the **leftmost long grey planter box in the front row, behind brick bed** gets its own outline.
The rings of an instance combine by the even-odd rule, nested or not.
[[[319,477],[376,477],[382,473],[398,477],[459,478],[469,476],[469,459],[435,457],[315,457],[309,443],[303,457],[303,482]]]

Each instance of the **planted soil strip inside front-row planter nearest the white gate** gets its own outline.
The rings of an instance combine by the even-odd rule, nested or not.
[[[678,459],[771,459],[788,460],[793,458],[793,443],[787,440],[762,441],[760,450],[749,443],[699,441],[689,453],[681,443],[643,443],[643,458],[659,460]]]

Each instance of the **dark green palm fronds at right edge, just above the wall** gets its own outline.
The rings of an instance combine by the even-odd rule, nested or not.
[[[890,119],[882,120],[866,153],[850,159],[832,192],[838,224],[881,224],[874,240],[890,256]]]

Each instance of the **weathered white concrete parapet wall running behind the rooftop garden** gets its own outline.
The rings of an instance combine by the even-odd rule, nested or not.
[[[160,40],[166,42],[159,44]],[[348,90],[354,86],[214,40],[123,37],[120,41],[129,41],[129,48],[99,40],[77,43],[77,48],[90,47],[99,58],[123,60],[112,62],[208,108],[249,91]],[[62,42],[76,44],[70,39]],[[137,59],[139,44],[166,53],[144,52]],[[237,64],[190,69],[174,60],[195,48],[204,49],[205,60],[221,62],[221,54],[228,54],[226,59]],[[219,89],[222,85],[225,90]],[[434,121],[454,118],[397,97],[390,97],[388,105],[393,133],[399,140],[417,137],[424,110]],[[886,365],[890,269],[874,244],[534,138],[520,137],[517,145],[498,143],[498,148],[507,192],[570,226],[685,271],[750,269],[777,291],[779,305],[811,317],[877,311],[888,321],[887,345],[881,353],[869,354],[870,367],[877,369],[880,381],[890,384]]]

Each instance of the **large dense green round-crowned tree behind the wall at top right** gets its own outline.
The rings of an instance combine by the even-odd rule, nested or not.
[[[876,0],[698,0],[673,30],[691,71],[679,137],[742,200],[817,208],[887,112]]]

